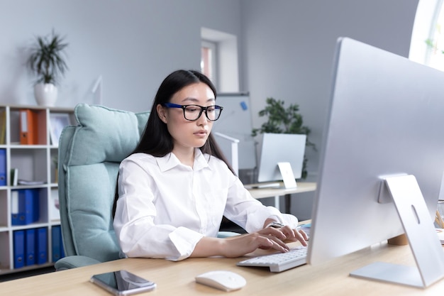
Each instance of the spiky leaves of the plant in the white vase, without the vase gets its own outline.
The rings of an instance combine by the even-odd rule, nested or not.
[[[27,61],[30,70],[38,77],[35,83],[57,84],[57,77],[63,76],[68,68],[64,53],[68,43],[64,43],[64,38],[54,31],[50,36],[37,36],[35,39]]]

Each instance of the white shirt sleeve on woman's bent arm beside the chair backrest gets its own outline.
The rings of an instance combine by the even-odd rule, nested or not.
[[[155,224],[152,176],[131,160],[119,170],[116,215],[113,226],[121,250],[128,257],[188,258],[203,234],[185,227]]]

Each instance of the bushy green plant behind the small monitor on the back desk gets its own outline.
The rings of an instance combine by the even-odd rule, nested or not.
[[[299,105],[290,104],[288,108],[284,107],[284,101],[267,98],[265,109],[259,111],[259,116],[268,116],[268,120],[260,128],[252,129],[252,136],[259,133],[299,133],[307,136],[306,146],[316,150],[314,143],[309,141],[311,130],[304,126],[302,115],[299,114]],[[304,155],[304,164],[302,168],[302,179],[307,177],[306,164],[308,159]]]

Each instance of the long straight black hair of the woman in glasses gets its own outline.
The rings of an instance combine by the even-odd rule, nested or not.
[[[163,80],[163,82],[160,84],[154,102],[152,103],[150,116],[148,117],[145,130],[140,137],[138,146],[131,154],[148,153],[155,157],[163,157],[172,151],[174,148],[173,138],[167,129],[167,124],[165,124],[165,122],[160,119],[159,114],[157,114],[157,105],[170,102],[175,93],[194,83],[204,83],[208,85],[216,98],[216,87],[214,87],[213,82],[211,82],[211,80],[209,80],[209,78],[201,72],[195,70],[177,70],[172,72],[170,75],[165,77],[165,80]],[[206,153],[223,160],[223,162],[228,165],[231,172],[234,173],[233,168],[231,168],[231,165],[226,160],[221,148],[219,148],[211,133],[204,146],[200,147],[200,149],[202,153]],[[118,185],[116,185],[116,194],[114,197],[113,216],[116,213],[117,199]]]

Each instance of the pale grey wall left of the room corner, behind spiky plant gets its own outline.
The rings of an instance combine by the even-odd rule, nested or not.
[[[57,106],[94,103],[150,109],[162,79],[200,69],[201,27],[240,34],[238,0],[0,0],[0,104],[35,105],[23,64],[35,35],[66,35],[70,70]]]

